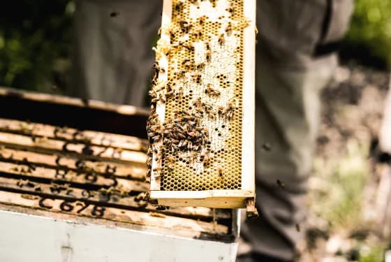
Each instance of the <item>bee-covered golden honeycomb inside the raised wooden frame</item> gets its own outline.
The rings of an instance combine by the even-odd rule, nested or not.
[[[172,1],[147,126],[162,191],[242,188],[243,14],[243,0]]]

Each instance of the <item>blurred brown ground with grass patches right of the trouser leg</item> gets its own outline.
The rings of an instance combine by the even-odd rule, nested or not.
[[[309,180],[307,246],[300,261],[383,261],[381,176],[375,145],[389,73],[346,64],[323,91],[323,116]],[[391,223],[391,222],[390,222]]]

